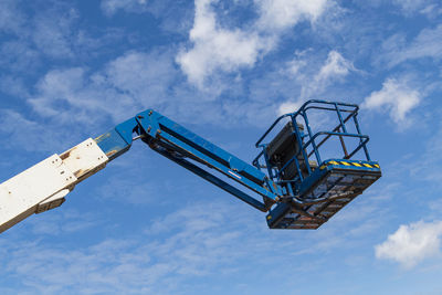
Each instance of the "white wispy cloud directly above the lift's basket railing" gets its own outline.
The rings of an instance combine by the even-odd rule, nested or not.
[[[267,71],[251,85],[251,97],[262,103],[272,102],[271,109],[277,115],[292,113],[307,99],[324,97],[326,92],[332,97],[348,75],[360,72],[335,50],[325,59],[323,54],[312,50],[295,52],[292,61],[275,65],[274,71]]]

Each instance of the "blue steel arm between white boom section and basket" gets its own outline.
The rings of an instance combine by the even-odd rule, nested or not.
[[[282,194],[281,187],[269,180],[265,173],[255,167],[151,109],[117,125],[114,129],[97,137],[95,141],[109,157],[109,160],[113,160],[130,148],[134,136],[139,136],[160,155],[263,212],[269,211]],[[161,146],[167,146],[167,149]],[[176,156],[177,152],[180,157]],[[203,164],[209,169],[204,170],[183,158]],[[210,172],[210,168],[266,198],[266,206],[243,190],[221,180]]]

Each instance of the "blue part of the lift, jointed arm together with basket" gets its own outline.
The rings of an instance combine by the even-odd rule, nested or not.
[[[307,115],[312,110],[335,114],[338,125],[314,133]],[[256,143],[262,151],[253,165],[152,109],[95,140],[113,160],[126,152],[133,140],[141,139],[166,158],[269,212],[271,229],[317,229],[381,176],[379,165],[368,154],[369,138],[360,131],[357,113],[357,105],[309,101],[297,112],[277,118],[266,130]],[[284,119],[286,125],[264,143]],[[338,149],[325,148],[332,138],[338,139]],[[348,138],[354,139],[350,146]],[[341,150],[343,155],[323,160],[324,148],[335,154]]]

